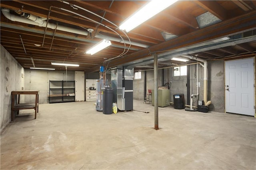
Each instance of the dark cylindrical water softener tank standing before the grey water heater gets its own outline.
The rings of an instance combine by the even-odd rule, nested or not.
[[[102,95],[102,112],[106,115],[112,114],[114,89],[110,85],[105,85]]]

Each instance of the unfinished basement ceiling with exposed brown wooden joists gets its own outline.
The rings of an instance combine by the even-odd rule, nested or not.
[[[127,36],[117,26],[148,1],[65,2],[0,1],[1,10],[11,16],[8,19],[1,12],[1,44],[25,69],[64,70],[64,66],[51,65],[64,62],[80,65],[68,70],[86,73],[98,71],[100,65],[129,65],[143,70],[152,67],[154,53],[159,56],[159,67],[183,64],[170,60],[182,54],[216,60],[252,57],[256,53],[254,0],[178,1]],[[20,16],[23,12],[40,17],[52,28],[31,23],[34,21]],[[20,18],[29,21],[24,23]],[[94,30],[91,34],[89,28]],[[219,40],[223,37],[227,40]],[[103,38],[108,38],[112,45],[94,55],[84,54]]]

